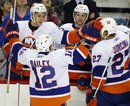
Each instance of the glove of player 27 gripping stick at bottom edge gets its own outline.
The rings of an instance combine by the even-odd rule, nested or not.
[[[87,88],[86,104],[87,106],[97,106],[97,99],[93,98],[96,90],[93,90],[91,86]]]

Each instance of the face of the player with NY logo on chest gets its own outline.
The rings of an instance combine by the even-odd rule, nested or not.
[[[35,13],[33,17],[33,26],[39,27],[46,19],[46,13]]]

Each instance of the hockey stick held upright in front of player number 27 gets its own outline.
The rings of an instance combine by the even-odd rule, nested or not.
[[[102,82],[102,80],[103,80],[103,76],[105,75],[105,72],[107,71],[107,68],[108,68],[108,66],[109,66],[109,63],[110,63],[111,58],[112,58],[112,56],[110,56],[109,59],[108,59],[108,61],[107,61],[107,64],[106,64],[105,69],[104,69],[104,71],[103,71],[103,73],[102,73],[102,77],[101,77],[101,79],[100,79],[100,81],[99,81],[98,87],[97,87],[97,89],[96,89],[96,91],[95,91],[95,93],[94,93],[93,98],[95,98],[96,95],[97,95],[97,92],[98,92],[98,90],[99,90],[99,88],[100,88],[100,85],[101,85],[101,82]]]

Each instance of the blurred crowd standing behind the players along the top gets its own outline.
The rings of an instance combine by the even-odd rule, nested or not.
[[[10,18],[10,8],[15,0],[0,1],[0,25],[5,26]],[[99,16],[96,2],[93,0],[17,0],[15,21],[30,20],[30,7],[33,3],[43,3],[48,10],[47,21],[52,21],[56,25],[73,23],[73,10],[78,4],[85,4],[89,7],[89,19]]]

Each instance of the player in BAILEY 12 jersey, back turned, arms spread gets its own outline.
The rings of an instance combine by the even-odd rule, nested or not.
[[[36,37],[36,50],[29,49],[24,47],[18,39],[17,23],[15,25],[10,23],[6,32],[13,56],[11,63],[14,64],[17,61],[31,69],[31,106],[63,106],[62,104],[70,98],[67,65],[89,60],[88,48],[79,45],[74,50],[51,51],[53,39],[44,34]],[[16,64],[16,67],[17,65],[19,64]]]

